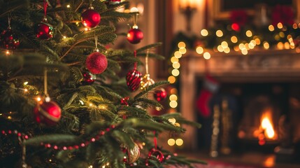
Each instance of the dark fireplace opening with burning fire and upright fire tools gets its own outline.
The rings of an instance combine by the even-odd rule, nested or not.
[[[203,80],[197,80],[201,92]],[[220,83],[208,102],[210,116],[197,120],[197,143],[210,156],[276,153],[276,147],[299,151],[300,83]],[[298,154],[299,155],[299,154]]]

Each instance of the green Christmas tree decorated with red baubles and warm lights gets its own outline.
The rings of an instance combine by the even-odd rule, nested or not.
[[[151,116],[168,85],[142,76],[140,58],[162,59],[160,43],[108,48],[117,38],[139,43],[137,12],[127,1],[0,1],[1,167],[164,167],[193,162],[157,144],[160,132],[182,134],[180,113]],[[125,36],[124,36],[125,35]],[[127,35],[127,36],[126,36]],[[147,65],[148,66],[148,65]],[[127,68],[129,67],[129,68]],[[127,73],[122,73],[122,72]],[[153,93],[157,93],[152,99]]]

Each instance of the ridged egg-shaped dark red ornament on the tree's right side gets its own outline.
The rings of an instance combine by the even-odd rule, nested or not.
[[[138,87],[141,84],[141,79],[142,79],[141,77],[142,77],[142,73],[136,69],[132,69],[127,73],[126,84],[129,90],[131,90],[131,92],[138,89]]]

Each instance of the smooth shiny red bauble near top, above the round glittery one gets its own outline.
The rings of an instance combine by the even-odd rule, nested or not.
[[[92,7],[88,8],[83,12],[83,14],[81,14],[81,22],[83,22],[83,25],[88,28],[97,27],[100,20],[100,14]]]

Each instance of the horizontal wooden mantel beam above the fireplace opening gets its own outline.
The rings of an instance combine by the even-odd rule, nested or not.
[[[248,55],[242,55],[241,52],[224,54],[211,51],[210,54],[211,58],[206,60],[197,52],[188,51],[180,59],[183,64],[181,71],[203,76],[206,62],[210,73],[224,80],[232,80],[234,77],[239,78],[238,80],[251,80],[266,76],[294,80],[294,77],[300,77],[300,53],[295,50],[250,50]]]

